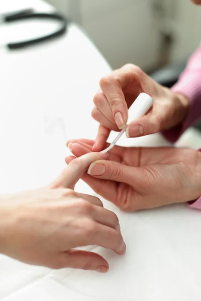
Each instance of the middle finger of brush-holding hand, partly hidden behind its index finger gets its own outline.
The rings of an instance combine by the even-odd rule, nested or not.
[[[95,94],[93,98],[94,105],[96,108],[102,112],[102,114],[109,119],[114,125],[116,125],[112,109],[110,107],[110,104],[108,102],[108,99],[106,95],[103,93],[102,90],[99,89],[99,91]]]

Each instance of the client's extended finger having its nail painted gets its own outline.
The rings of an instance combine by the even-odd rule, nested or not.
[[[108,153],[89,153],[79,158],[72,160],[64,169],[61,175],[53,181],[51,188],[71,188],[74,189],[75,184],[81,178],[83,173],[87,170],[88,166],[98,159],[108,159]]]

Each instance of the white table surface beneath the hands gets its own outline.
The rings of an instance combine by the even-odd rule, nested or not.
[[[7,0],[0,12],[51,8],[40,1]],[[40,35],[55,24],[1,26],[5,40]],[[69,138],[94,138],[90,117],[99,79],[111,71],[75,25],[65,36],[26,50],[0,50],[1,193],[47,184],[65,167]],[[160,136],[122,138],[128,145],[168,145]],[[83,182],[77,190],[93,193]],[[103,200],[120,219],[125,256],[95,248],[110,263],[107,274],[34,267],[0,256],[0,299],[4,301],[140,300],[198,301],[201,298],[201,216],[175,205],[126,214]]]

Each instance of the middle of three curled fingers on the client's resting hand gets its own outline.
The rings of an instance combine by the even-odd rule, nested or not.
[[[114,212],[103,207],[94,206],[91,216],[96,222],[120,231],[119,219]]]

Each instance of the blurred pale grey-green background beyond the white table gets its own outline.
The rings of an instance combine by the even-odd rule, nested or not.
[[[150,73],[185,60],[201,40],[201,7],[189,0],[48,0],[88,33],[112,68]]]

